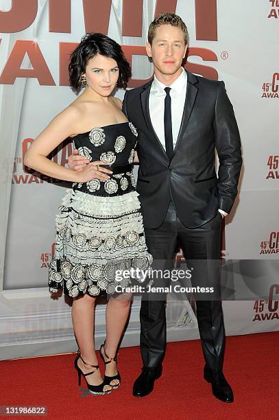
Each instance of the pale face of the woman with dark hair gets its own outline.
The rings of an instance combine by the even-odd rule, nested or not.
[[[88,60],[85,75],[90,89],[101,96],[109,96],[117,84],[119,67],[113,58],[97,54]]]

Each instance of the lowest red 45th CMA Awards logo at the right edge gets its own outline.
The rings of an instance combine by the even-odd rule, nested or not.
[[[269,288],[269,298],[258,300],[254,303],[253,320],[273,320],[279,319],[278,313],[279,284],[273,284]]]

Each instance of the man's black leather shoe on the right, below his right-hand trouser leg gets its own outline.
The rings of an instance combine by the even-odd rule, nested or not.
[[[211,384],[213,395],[223,402],[234,402],[232,388],[226,381],[222,371],[213,371],[204,366],[204,379]]]

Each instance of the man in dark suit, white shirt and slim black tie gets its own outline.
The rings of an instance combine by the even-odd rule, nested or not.
[[[149,26],[146,46],[154,80],[125,93],[123,112],[138,129],[137,191],[155,264],[165,261],[164,268],[171,270],[179,242],[186,260],[195,266],[192,285],[202,281],[218,290],[217,270],[208,273],[202,263],[220,258],[221,220],[237,193],[241,144],[223,82],[185,71],[182,60],[187,48],[182,19],[175,14],[158,16]],[[232,402],[232,388],[222,372],[221,301],[196,299],[196,307],[206,361],[204,379],[212,384],[215,397]],[[143,299],[140,317],[143,371],[134,383],[136,397],[151,393],[162,372],[165,301]]]

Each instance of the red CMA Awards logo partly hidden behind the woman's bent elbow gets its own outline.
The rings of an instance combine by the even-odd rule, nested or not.
[[[24,157],[28,148],[32,144],[33,139],[23,139],[22,155],[14,158],[14,168],[12,171],[12,184],[60,184],[64,181],[50,178],[47,175],[40,174],[35,170],[24,165]],[[47,156],[51,161],[59,165],[66,166],[68,157],[73,153],[71,139],[64,140],[56,149]]]

